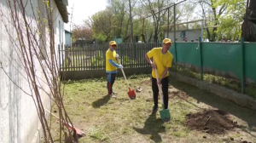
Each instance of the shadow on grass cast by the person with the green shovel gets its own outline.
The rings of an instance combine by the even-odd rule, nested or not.
[[[137,129],[133,127],[135,131],[139,134],[150,134],[150,139],[154,142],[161,142],[160,133],[166,132],[166,127],[163,126],[163,122],[160,118],[156,118],[156,115],[150,115],[146,122],[144,123],[143,129]]]

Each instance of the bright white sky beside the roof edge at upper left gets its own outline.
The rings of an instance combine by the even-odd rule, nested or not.
[[[107,0],[68,0],[67,12],[69,21],[73,8],[73,24],[81,25],[83,20],[88,19],[92,14],[106,9]],[[70,22],[65,24],[64,28],[70,31]]]

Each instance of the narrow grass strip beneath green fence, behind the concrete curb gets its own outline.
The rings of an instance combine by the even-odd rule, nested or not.
[[[172,71],[176,72],[175,67],[172,68]],[[201,79],[200,72],[192,72],[189,69],[182,68],[182,67],[177,67],[177,72],[187,77]],[[227,89],[233,89],[241,93],[241,82],[232,78],[218,77],[212,74],[204,73],[204,81],[207,81],[210,83],[216,83],[218,85],[224,86]],[[246,84],[245,93],[256,99],[256,85]]]

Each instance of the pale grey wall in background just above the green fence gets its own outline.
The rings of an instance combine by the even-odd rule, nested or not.
[[[188,37],[188,42],[191,42],[191,40],[198,39],[198,37],[201,37],[201,29],[199,30],[184,30],[185,31],[185,37]],[[177,42],[183,41],[183,37],[180,37],[181,31],[176,31],[176,38]],[[167,37],[167,31],[165,31],[165,37]],[[169,38],[174,41],[174,32],[169,31]]]

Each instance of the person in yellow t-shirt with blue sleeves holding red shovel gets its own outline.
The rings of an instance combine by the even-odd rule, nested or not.
[[[117,64],[117,58],[119,58],[119,54],[116,54],[116,43],[111,41],[109,43],[109,49],[106,52],[106,72],[108,77],[108,95],[110,97],[116,97],[114,94],[117,94],[113,91],[113,83],[115,80],[115,76],[118,68],[123,68],[122,65]]]

